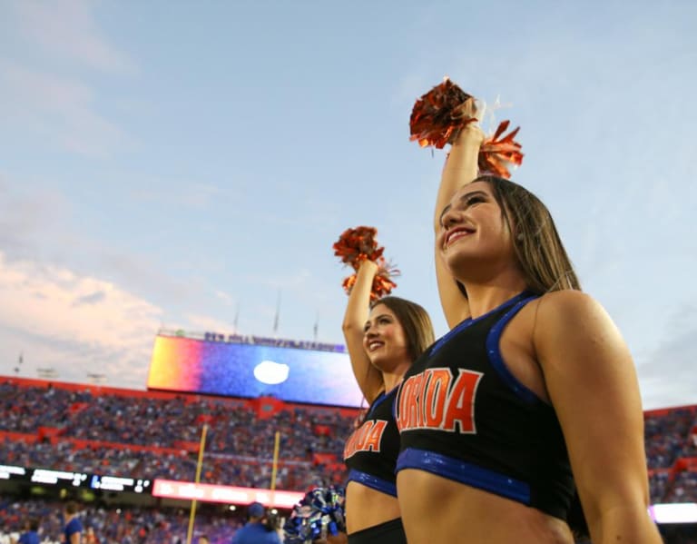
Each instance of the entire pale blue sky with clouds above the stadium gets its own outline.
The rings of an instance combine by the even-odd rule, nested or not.
[[[522,126],[514,180],[555,215],[633,352],[646,408],[697,402],[697,5],[0,5],[0,372],[144,388],[161,326],[342,341],[331,244],[378,227],[395,294],[446,331],[408,141],[449,75]]]

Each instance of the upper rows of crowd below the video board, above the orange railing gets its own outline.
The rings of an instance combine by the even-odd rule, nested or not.
[[[60,430],[62,437],[123,444],[178,448],[198,443],[209,423],[206,450],[271,458],[274,430],[281,433],[284,458],[302,460],[313,452],[339,454],[353,417],[337,410],[293,407],[269,419],[257,418],[243,401],[176,396],[172,399],[93,396],[91,391],[0,384],[0,430],[36,433]],[[324,430],[317,432],[317,427]]]

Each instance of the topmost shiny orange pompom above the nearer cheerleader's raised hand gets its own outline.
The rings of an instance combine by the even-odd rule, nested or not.
[[[446,143],[456,139],[463,127],[476,122],[475,117],[463,113],[466,103],[474,100],[474,96],[445,78],[414,104],[409,119],[410,139],[417,140],[421,147],[433,145],[443,149]]]

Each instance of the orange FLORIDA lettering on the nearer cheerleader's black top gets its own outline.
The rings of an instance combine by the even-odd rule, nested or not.
[[[416,429],[475,433],[476,387],[482,372],[427,369],[402,384],[398,397],[399,432]]]

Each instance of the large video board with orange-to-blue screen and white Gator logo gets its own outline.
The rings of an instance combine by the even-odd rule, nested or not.
[[[347,353],[158,335],[148,389],[358,407]]]

